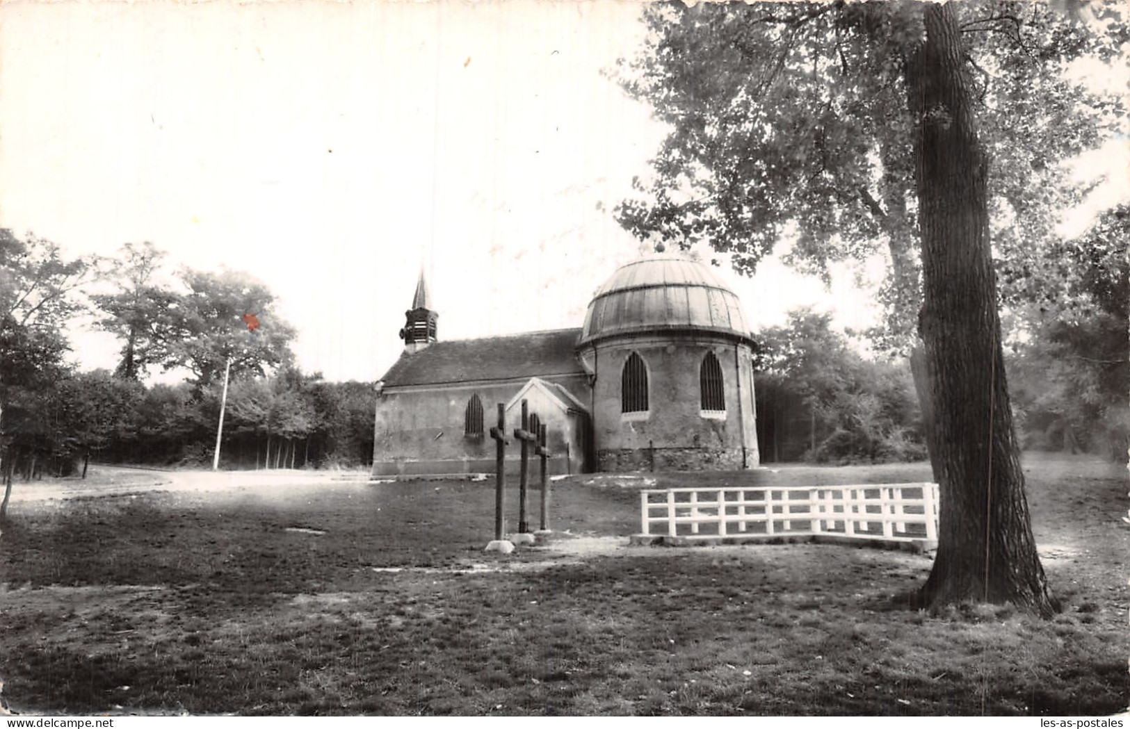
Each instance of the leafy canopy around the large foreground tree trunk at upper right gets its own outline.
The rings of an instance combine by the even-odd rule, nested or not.
[[[640,238],[705,244],[753,273],[779,241],[788,258],[828,263],[885,255],[887,317],[876,345],[902,351],[921,301],[914,130],[904,79],[921,37],[918,3],[657,3],[652,30],[617,78],[670,133],[617,216]],[[1040,3],[963,3],[976,70],[994,246],[1009,299],[1031,252],[1085,192],[1060,165],[1124,131],[1116,96],[1064,71],[1110,61],[1127,39],[1116,9],[1104,33]]]

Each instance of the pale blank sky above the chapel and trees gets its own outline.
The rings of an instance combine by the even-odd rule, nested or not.
[[[244,270],[306,371],[375,380],[426,263],[441,339],[580,326],[638,255],[610,210],[663,129],[601,71],[632,2],[0,6],[0,226],[70,254],[149,240]],[[729,272],[755,330],[833,302],[773,261]],[[118,344],[72,336],[85,367]]]

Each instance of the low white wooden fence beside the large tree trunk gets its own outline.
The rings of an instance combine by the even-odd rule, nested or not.
[[[649,489],[640,504],[644,535],[938,541],[936,483]]]

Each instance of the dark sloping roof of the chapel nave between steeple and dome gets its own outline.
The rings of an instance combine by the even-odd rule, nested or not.
[[[575,354],[581,330],[550,330],[447,340],[405,353],[385,372],[385,387],[583,375]]]

